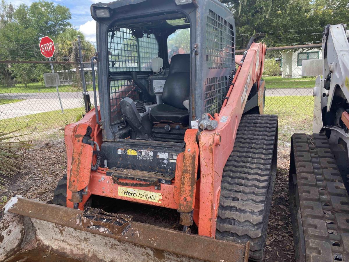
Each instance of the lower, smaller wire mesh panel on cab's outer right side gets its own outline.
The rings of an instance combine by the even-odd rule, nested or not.
[[[218,113],[227,92],[228,79],[226,76],[207,78],[204,89],[205,113],[210,113],[212,116],[214,113]]]

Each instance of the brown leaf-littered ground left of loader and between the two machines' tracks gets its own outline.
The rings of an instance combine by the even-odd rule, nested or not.
[[[266,241],[265,261],[295,261],[289,212],[288,167],[290,148],[279,147],[277,177]],[[66,173],[67,158],[63,140],[46,143],[23,153],[24,167],[13,174],[0,190],[0,208],[13,195],[48,201],[53,190]]]

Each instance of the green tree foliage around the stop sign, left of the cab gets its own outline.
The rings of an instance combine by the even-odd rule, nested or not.
[[[51,1],[39,0],[30,6],[22,3],[14,9],[12,4],[1,0],[0,60],[43,60],[39,41],[43,36],[48,35],[57,44],[55,58],[77,61],[78,34],[82,38],[83,54],[89,59],[95,52],[95,48],[90,42],[84,40],[81,32],[71,28],[70,18],[71,14],[67,7],[56,5]],[[72,46],[74,50],[71,49]],[[74,54],[73,57],[72,54]],[[2,81],[15,78],[25,85],[30,81],[42,81],[43,73],[50,71],[50,65],[0,64]]]

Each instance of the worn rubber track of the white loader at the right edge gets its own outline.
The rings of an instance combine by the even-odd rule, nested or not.
[[[325,134],[294,134],[289,194],[297,261],[349,261],[349,197]]]

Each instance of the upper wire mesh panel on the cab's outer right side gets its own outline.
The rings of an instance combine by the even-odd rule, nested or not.
[[[234,53],[233,25],[212,10],[206,20],[206,61],[208,68],[229,68]]]

